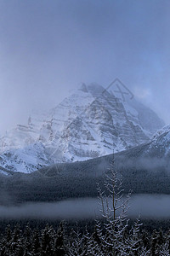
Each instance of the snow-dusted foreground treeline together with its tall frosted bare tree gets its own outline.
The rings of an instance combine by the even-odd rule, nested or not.
[[[130,193],[123,197],[122,179],[113,166],[105,179],[105,190],[99,187],[100,210],[104,224],[96,220],[94,231],[84,229],[83,234],[71,230],[66,234],[64,223],[58,230],[46,225],[43,230],[31,230],[26,225],[11,230],[8,226],[0,239],[0,255],[170,255],[170,231],[154,230],[151,235],[142,230],[137,219],[130,227],[127,210]],[[107,192],[106,192],[107,190]]]

